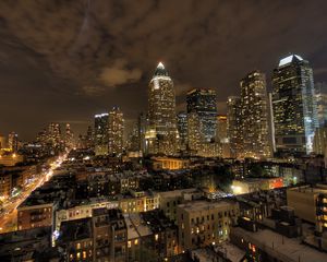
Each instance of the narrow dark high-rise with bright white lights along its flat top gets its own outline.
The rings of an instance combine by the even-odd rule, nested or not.
[[[108,154],[108,121],[109,121],[108,112],[95,115],[94,140],[95,140],[96,155]]]

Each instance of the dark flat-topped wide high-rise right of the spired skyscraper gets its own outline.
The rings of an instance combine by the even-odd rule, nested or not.
[[[186,96],[187,114],[196,112],[199,118],[202,142],[211,142],[217,131],[217,99],[214,90],[192,90]]]

